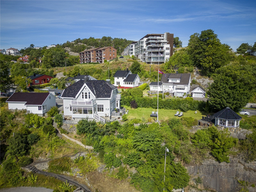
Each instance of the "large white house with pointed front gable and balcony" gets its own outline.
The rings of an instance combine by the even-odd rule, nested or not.
[[[104,122],[101,116],[111,118],[120,109],[120,94],[116,86],[104,80],[84,80],[68,86],[61,94],[64,116],[71,118],[94,118]]]

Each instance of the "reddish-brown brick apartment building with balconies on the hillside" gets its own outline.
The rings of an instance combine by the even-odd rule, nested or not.
[[[113,60],[116,58],[116,49],[114,47],[98,47],[86,49],[79,52],[80,63],[104,63],[104,60]]]

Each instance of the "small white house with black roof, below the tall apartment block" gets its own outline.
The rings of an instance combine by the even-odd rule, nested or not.
[[[120,88],[134,88],[140,85],[138,74],[132,74],[131,70],[117,70],[115,75],[115,86]]]

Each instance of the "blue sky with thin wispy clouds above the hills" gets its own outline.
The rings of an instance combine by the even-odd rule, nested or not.
[[[173,33],[183,47],[189,36],[212,29],[234,51],[256,42],[256,1],[1,1],[1,49],[63,44],[77,38],[139,40]]]

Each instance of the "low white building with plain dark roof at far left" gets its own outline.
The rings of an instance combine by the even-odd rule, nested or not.
[[[56,106],[56,98],[51,93],[13,93],[6,102],[8,109],[26,109],[28,113],[44,115]]]

